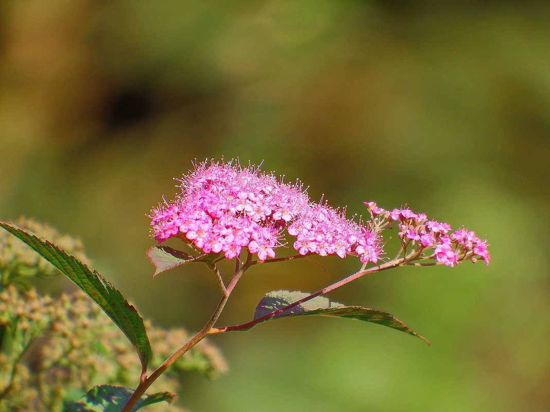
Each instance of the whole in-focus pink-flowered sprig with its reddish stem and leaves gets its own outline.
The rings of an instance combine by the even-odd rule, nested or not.
[[[158,243],[147,251],[155,266],[153,276],[185,263],[204,263],[216,276],[221,296],[206,325],[193,336],[182,337],[183,345],[151,373],[148,372],[153,359],[151,340],[135,307],[105,278],[67,251],[12,224],[0,222],[2,228],[23,240],[84,290],[124,332],[138,354],[141,373],[135,390],[109,384],[96,386],[78,402],[68,405],[68,412],[133,412],[162,400],[171,402],[175,397],[172,393],[145,392],[169,367],[177,369],[177,360],[196,350],[202,339],[215,333],[246,331],[260,322],[280,317],[353,318],[426,340],[387,312],[344,305],[323,295],[366,274],[398,266],[453,267],[461,261],[478,259],[489,263],[486,241],[465,228],[452,231],[449,224],[430,220],[424,213],[415,213],[406,207],[386,211],[371,201],[365,202],[370,219],[347,218],[345,209],[332,208],[327,202],[312,202],[301,184],[284,183],[272,173],[263,173],[250,164],[243,167],[235,161],[205,161],[196,164],[179,182],[181,193],[174,200],[153,208],[149,215],[151,234]],[[386,230],[397,231],[394,239],[399,241],[399,250],[393,259],[383,251]],[[162,244],[171,238],[183,240],[187,251]],[[288,246],[287,250],[294,250],[291,252],[294,254],[279,254],[282,246]],[[361,267],[315,293],[268,292],[256,306],[251,321],[215,326],[229,295],[249,268],[313,255],[354,256],[359,258]],[[222,260],[235,262],[229,281],[217,266]],[[150,329],[149,334],[154,332]],[[175,336],[177,333],[171,333],[172,338]],[[158,340],[153,343],[162,347]]]

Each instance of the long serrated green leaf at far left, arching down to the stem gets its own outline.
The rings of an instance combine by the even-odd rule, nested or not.
[[[147,365],[151,359],[151,344],[149,338],[147,338],[143,320],[135,307],[130,305],[111,283],[103,278],[101,274],[91,271],[84,263],[59,249],[50,241],[40,239],[34,234],[14,227],[9,223],[0,222],[0,227],[29,245],[100,305],[101,309],[134,345],[141,361],[142,370],[147,370]]]

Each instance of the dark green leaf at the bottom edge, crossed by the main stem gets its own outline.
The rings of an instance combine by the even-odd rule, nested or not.
[[[133,393],[133,389],[129,388],[109,385],[95,386],[82,398],[68,405],[64,412],[120,412]],[[132,412],[163,400],[171,403],[175,398],[176,396],[169,392],[145,394],[132,408]]]

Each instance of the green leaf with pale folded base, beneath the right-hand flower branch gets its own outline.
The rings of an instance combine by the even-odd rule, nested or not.
[[[299,291],[289,292],[288,290],[275,290],[273,292],[269,292],[263,296],[260,303],[256,306],[256,310],[254,311],[254,319],[260,319],[273,311],[283,309],[284,307],[294,303],[295,301],[303,299],[306,296],[310,296],[310,294]],[[405,325],[405,323],[401,322],[397,317],[394,317],[388,312],[368,309],[368,307],[363,306],[344,306],[341,303],[333,302],[323,296],[317,296],[316,298],[307,300],[287,311],[268,317],[262,321],[279,317],[302,315],[344,317],[364,322],[378,323],[378,325],[387,326],[401,332],[409,333],[412,336],[425,340],[428,345],[430,344],[426,338],[423,338],[419,334],[413,332]]]

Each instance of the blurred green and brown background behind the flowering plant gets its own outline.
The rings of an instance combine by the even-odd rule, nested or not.
[[[398,268],[329,297],[387,310],[430,347],[362,322],[268,322],[213,337],[230,372],[190,376],[183,403],[550,410],[549,21],[548,2],[3,0],[0,218],[79,235],[142,315],[197,329],[213,275],[151,281],[145,258],[145,215],[195,158],[264,160],[349,213],[408,204],[487,235],[491,265]],[[220,325],[359,266],[317,261],[247,272]]]

